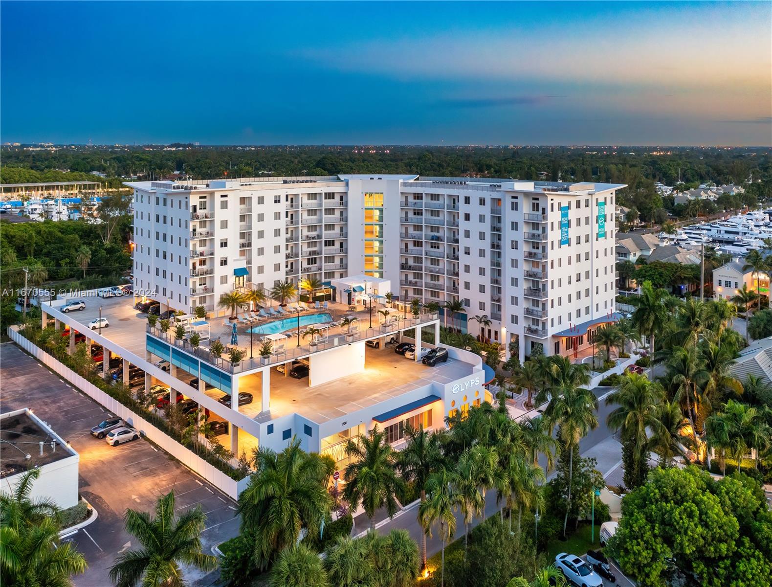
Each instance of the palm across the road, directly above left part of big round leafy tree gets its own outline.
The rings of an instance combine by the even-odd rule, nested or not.
[[[608,427],[621,430],[622,443],[633,446],[632,462],[625,462],[625,485],[631,489],[642,482],[642,472],[648,460],[646,429],[653,425],[655,409],[664,396],[659,383],[650,382],[646,375],[628,373],[618,389],[606,398],[606,405],[618,406],[608,414]]]

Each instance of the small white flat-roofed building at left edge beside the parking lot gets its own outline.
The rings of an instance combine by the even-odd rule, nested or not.
[[[80,456],[30,409],[0,415],[0,491],[12,493],[23,473],[38,469],[32,500],[52,500],[61,509],[78,503]]]

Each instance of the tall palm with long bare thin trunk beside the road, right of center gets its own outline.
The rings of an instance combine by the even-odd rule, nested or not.
[[[566,534],[568,511],[571,510],[571,486],[574,480],[574,446],[590,430],[598,427],[598,399],[589,390],[580,387],[590,382],[587,365],[572,365],[566,357],[550,357],[547,367],[547,391],[550,403],[544,417],[551,426],[560,426],[558,436],[566,450],[570,451],[568,464],[568,495],[563,535]]]

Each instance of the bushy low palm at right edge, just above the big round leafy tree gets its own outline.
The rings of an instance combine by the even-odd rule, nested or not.
[[[772,445],[772,429],[757,408],[730,399],[722,412],[709,416],[708,420],[712,436],[737,461],[737,470],[751,449],[756,450],[754,461],[756,468],[759,467],[760,453]]]

